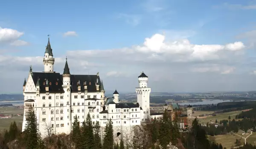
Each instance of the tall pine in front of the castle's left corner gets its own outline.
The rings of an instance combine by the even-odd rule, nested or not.
[[[26,149],[37,149],[39,145],[37,117],[34,109],[31,107],[29,108],[28,113],[29,114],[26,116],[26,125],[24,130],[26,134]]]

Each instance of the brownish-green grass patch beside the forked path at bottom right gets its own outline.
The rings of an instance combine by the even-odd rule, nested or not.
[[[231,146],[235,147],[236,139],[241,139],[241,137],[237,135],[216,135],[214,137],[208,136],[209,138],[214,138],[216,143],[221,143],[223,147],[226,147],[227,149],[230,149]],[[244,143],[244,139],[241,139],[241,143]]]

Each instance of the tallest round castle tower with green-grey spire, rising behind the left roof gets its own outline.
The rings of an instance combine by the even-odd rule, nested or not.
[[[52,54],[52,48],[50,44],[50,39],[48,35],[48,44],[46,46],[45,52],[44,52],[44,72],[53,72],[53,65],[54,65],[54,58]]]

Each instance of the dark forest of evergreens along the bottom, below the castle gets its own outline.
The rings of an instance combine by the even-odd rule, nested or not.
[[[99,123],[92,124],[90,115],[87,115],[82,126],[79,126],[77,117],[72,126],[70,135],[48,134],[42,139],[37,127],[37,117],[33,109],[29,109],[27,124],[24,132],[18,129],[15,122],[10,125],[9,131],[0,135],[1,149],[169,149],[169,143],[178,149],[225,149],[207,138],[208,131],[195,119],[188,132],[180,132],[177,122],[171,121],[167,111],[160,120],[154,119],[145,124],[148,139],[143,147],[136,143],[129,144],[125,139],[116,143],[113,139],[113,126],[108,120],[104,131],[104,138],[99,137]],[[231,129],[234,129],[233,126]],[[16,146],[16,147],[15,147]],[[17,147],[18,146],[18,147]],[[255,146],[245,144],[240,149],[256,149]]]

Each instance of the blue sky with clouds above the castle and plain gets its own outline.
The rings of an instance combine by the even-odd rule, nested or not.
[[[68,56],[69,63],[74,66],[74,73],[100,72],[109,90],[121,88],[123,92],[133,92],[137,86],[137,74],[142,70],[148,71],[148,75],[153,77],[151,86],[157,92],[256,88],[255,83],[244,80],[255,80],[255,0],[6,0],[1,5],[0,34],[4,36],[0,39],[0,54],[12,59],[12,62],[8,62],[12,66],[7,68],[6,65],[1,65],[6,70],[2,74],[9,78],[10,74],[19,73],[21,77],[13,76],[15,79],[12,81],[20,84],[29,69],[25,69],[25,66],[32,64],[36,71],[42,71],[41,56],[44,56],[47,34],[50,34],[53,54],[59,58],[59,62],[56,60],[56,71],[63,70],[64,64],[61,63]],[[11,30],[3,32],[5,29]],[[14,30],[23,34],[15,36],[17,32]],[[70,34],[65,36],[67,32]],[[149,41],[151,46],[161,44],[160,49],[158,46],[152,49],[145,45],[146,38],[156,34],[165,38],[165,46],[157,43],[161,36]],[[6,40],[3,40],[4,37]],[[12,43],[16,40],[26,43],[13,46]],[[180,40],[189,40],[189,48],[177,52],[179,47],[183,47],[183,44],[177,46],[175,43]],[[235,49],[225,46],[211,50],[211,45],[224,46],[235,42],[241,42]],[[176,49],[168,48],[174,43]],[[201,49],[206,48],[201,50],[203,54],[191,54],[191,50],[196,49],[195,45],[201,45]],[[125,49],[130,54],[123,52]],[[145,52],[145,49],[149,50]],[[99,54],[100,52],[105,54]],[[108,55],[111,52],[113,53]],[[4,59],[2,63],[5,63]],[[230,73],[224,73],[227,70]],[[159,73],[163,73],[163,80],[159,80]],[[184,80],[181,76],[189,80],[200,80],[202,83],[195,87],[192,85],[195,82]],[[6,78],[3,80],[6,81]],[[208,80],[213,78],[219,81],[213,81],[212,86],[205,87]],[[237,80],[236,84],[231,78]],[[169,87],[161,85],[162,81]],[[123,83],[131,84],[123,87]],[[247,87],[237,85],[242,83]],[[175,84],[181,85],[177,87]],[[223,87],[219,88],[220,85]],[[19,89],[20,87],[15,87],[14,92],[19,92]]]

